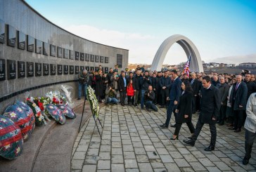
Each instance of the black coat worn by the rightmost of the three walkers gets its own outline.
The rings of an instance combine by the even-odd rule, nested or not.
[[[201,89],[201,101],[200,101],[200,115],[199,121],[205,124],[215,124],[215,121],[212,120],[212,117],[217,119],[219,116],[219,109],[221,106],[219,89],[214,85],[211,85],[209,89]]]

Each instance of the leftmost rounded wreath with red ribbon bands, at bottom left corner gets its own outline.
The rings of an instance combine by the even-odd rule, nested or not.
[[[20,127],[8,117],[0,115],[0,156],[5,159],[15,159],[22,151],[23,136]]]

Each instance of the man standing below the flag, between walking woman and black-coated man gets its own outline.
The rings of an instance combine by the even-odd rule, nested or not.
[[[199,87],[200,87],[200,81],[196,79],[196,73],[191,73],[191,87],[193,89],[193,99],[192,99],[192,114],[196,113],[196,102],[198,99],[198,93],[199,93]]]

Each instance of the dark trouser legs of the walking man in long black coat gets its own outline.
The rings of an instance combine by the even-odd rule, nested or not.
[[[200,133],[200,131],[203,128],[204,123],[201,123],[198,120],[198,123],[196,124],[196,130],[195,133],[192,136],[192,140],[194,142],[196,142],[196,139],[198,138],[198,135]],[[211,142],[210,142],[210,146],[215,147],[215,143],[216,143],[216,138],[217,138],[217,131],[216,131],[216,124],[209,124],[210,126],[210,132],[211,132]]]

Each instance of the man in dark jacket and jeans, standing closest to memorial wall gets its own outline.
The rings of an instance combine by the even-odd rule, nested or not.
[[[78,74],[78,98],[77,100],[81,99],[82,95],[82,88],[84,90],[84,98],[87,99],[87,84],[89,81],[89,73],[87,70],[80,70]]]

